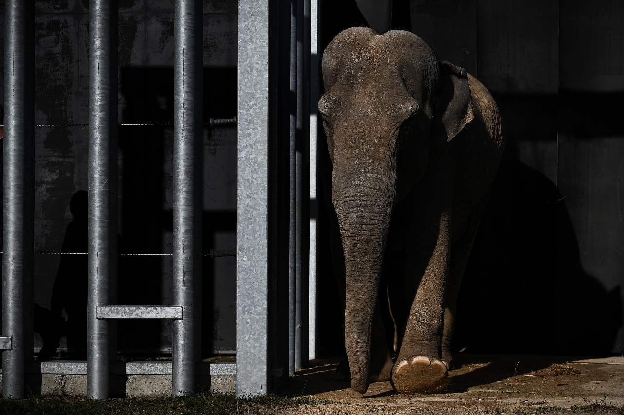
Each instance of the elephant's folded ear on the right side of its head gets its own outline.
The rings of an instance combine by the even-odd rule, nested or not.
[[[466,70],[440,63],[439,85],[432,134],[449,142],[474,118]]]

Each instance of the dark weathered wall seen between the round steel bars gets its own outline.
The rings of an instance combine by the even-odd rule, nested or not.
[[[0,24],[3,24],[1,3]],[[172,0],[119,1],[121,124],[173,122],[172,3]],[[37,124],[87,123],[88,4],[87,0],[36,2]],[[210,117],[236,115],[237,7],[236,0],[204,1],[205,122]],[[3,45],[4,41],[0,41],[0,48]],[[2,62],[0,76],[4,70]],[[119,137],[120,249],[127,253],[170,253],[172,127],[120,126]],[[35,151],[35,249],[59,252],[72,221],[69,210],[72,195],[87,190],[87,127],[37,127]],[[232,249],[236,244],[235,127],[205,129],[203,180],[203,251]],[[84,245],[84,232],[73,238],[74,246]],[[68,256],[71,266],[78,265],[80,259],[74,258],[77,256]],[[61,255],[36,255],[35,259],[36,302],[50,308]],[[123,257],[119,302],[170,304],[171,273],[171,256]],[[203,349],[232,351],[235,348],[235,262],[208,257],[203,263],[203,273]],[[85,278],[84,273],[84,278],[78,276],[79,281],[72,284],[74,300],[64,300],[69,301],[64,315],[67,316],[69,308],[82,307],[77,300],[82,291],[86,297]],[[76,320],[78,314],[74,312],[74,322],[82,326]],[[69,320],[71,323],[71,315]],[[134,351],[167,349],[171,347],[170,333],[169,321],[120,322],[119,347]],[[66,344],[63,339],[61,346]],[[76,344],[79,346],[80,342]],[[36,346],[41,346],[37,336]]]

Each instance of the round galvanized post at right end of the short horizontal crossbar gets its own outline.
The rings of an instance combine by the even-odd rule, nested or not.
[[[194,391],[195,293],[198,281],[197,140],[197,26],[202,24],[199,0],[174,2],[173,35],[173,303],[183,307],[182,320],[173,321],[173,396]],[[201,222],[199,222],[201,223]],[[197,356],[199,357],[199,356]]]

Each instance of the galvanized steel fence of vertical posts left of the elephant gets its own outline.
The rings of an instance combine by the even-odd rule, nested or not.
[[[316,29],[311,31],[316,26],[315,16],[311,24],[316,4],[310,0],[239,1],[238,115],[210,119],[210,125],[238,122],[238,396],[275,389],[271,378],[295,374],[308,356],[314,357],[316,288],[314,258],[308,249],[314,253],[316,222],[305,226],[309,217],[305,195],[310,190],[310,201],[315,203],[316,115],[311,108],[316,106],[318,90],[310,91],[310,72],[316,77],[318,36]],[[194,391],[195,368],[201,361],[202,1],[174,1],[175,306],[115,305],[119,255],[117,9],[117,1],[89,2],[87,397],[109,398],[110,364],[117,359],[116,321],[124,318],[173,320],[172,394],[181,396]],[[269,25],[271,19],[275,23],[274,17],[285,36],[271,37]],[[24,363],[32,360],[34,319],[30,306],[34,303],[34,1],[7,0],[5,22],[2,397],[23,398]],[[271,50],[278,50],[279,56],[271,57]],[[286,84],[285,74],[271,67],[275,58],[283,62],[281,67],[288,67]],[[280,82],[287,87],[276,87]],[[318,89],[318,83],[314,87]],[[286,134],[272,134],[280,130],[271,122],[280,110],[270,110],[271,102],[288,114],[287,122],[281,123]],[[276,170],[276,164],[283,168]],[[287,185],[281,190],[272,188],[271,181],[284,172],[288,172]],[[278,216],[269,212],[277,208],[275,200],[286,207]],[[271,229],[279,218],[288,222],[281,234]],[[286,265],[286,278],[278,271],[282,269],[278,262]],[[287,310],[286,320],[276,316],[279,310]],[[306,332],[308,326],[311,329]]]

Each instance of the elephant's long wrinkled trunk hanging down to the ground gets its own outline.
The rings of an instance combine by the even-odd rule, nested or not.
[[[346,265],[344,339],[351,387],[359,393],[368,389],[371,327],[396,185],[394,162],[374,165],[379,162],[368,168],[336,163],[332,186]]]

